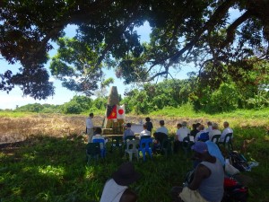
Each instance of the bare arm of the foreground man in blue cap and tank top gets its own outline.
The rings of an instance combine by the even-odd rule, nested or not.
[[[194,180],[192,180],[188,188],[192,190],[198,189],[202,181],[205,178],[208,178],[210,175],[211,175],[211,171],[203,164],[199,164],[195,170]]]

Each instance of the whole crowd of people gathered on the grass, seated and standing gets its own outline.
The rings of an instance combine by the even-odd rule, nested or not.
[[[91,143],[94,139],[105,139],[101,136],[102,129],[100,127],[94,127],[92,123],[93,113],[86,119],[86,133],[88,135],[88,142]],[[165,127],[164,120],[160,120],[160,127],[156,128],[152,133],[153,125],[150,118],[145,119],[143,124],[143,130],[139,134],[138,138],[142,136],[156,136],[163,134],[169,136],[169,130]],[[220,142],[225,140],[227,134],[233,133],[229,123],[225,121],[223,123],[224,129],[219,129],[217,123],[208,121],[207,127],[204,127],[201,123],[195,123],[190,130],[187,127],[187,121],[177,124],[176,135],[174,136],[174,153],[178,153],[178,150],[188,138],[188,141],[192,141],[193,145],[191,149],[194,151],[194,172],[193,180],[185,187],[172,188],[172,198],[174,202],[191,202],[191,201],[203,201],[203,202],[221,202],[223,195],[223,180],[224,180],[224,168],[225,159],[221,154],[221,150],[218,145],[212,141],[212,137],[220,135]],[[125,140],[127,136],[134,136],[131,123],[126,124],[126,129],[123,134]],[[105,145],[103,145],[105,146]],[[112,174],[104,186],[102,191],[100,202],[133,202],[137,200],[137,195],[128,188],[128,186],[135,180],[139,179],[139,173],[134,171],[134,165],[132,162],[124,162],[117,171]]]

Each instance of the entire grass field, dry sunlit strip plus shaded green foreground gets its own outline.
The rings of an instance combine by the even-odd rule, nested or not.
[[[32,117],[33,116],[33,117]],[[219,115],[218,115],[219,116]],[[269,136],[268,119],[246,118],[230,115],[221,119],[218,117],[155,117],[154,127],[158,127],[158,120],[167,120],[170,131],[175,131],[175,124],[182,119],[191,122],[205,122],[208,119],[221,124],[229,120],[234,129],[234,147],[241,151],[248,160],[255,159],[259,166],[241,173],[244,183],[249,188],[249,202],[269,201]],[[142,117],[136,117],[139,120]],[[28,122],[23,122],[27,120]],[[74,121],[76,120],[76,121]],[[96,119],[98,120],[98,118]],[[244,121],[245,120],[245,121]],[[3,122],[5,121],[5,122]],[[83,129],[84,117],[30,115],[26,117],[1,116],[0,124],[9,122],[21,123],[20,128],[28,128],[31,132],[19,145],[11,145],[1,149],[0,152],[0,198],[1,202],[17,201],[99,201],[101,191],[111,173],[117,170],[118,165],[128,161],[120,152],[107,153],[105,159],[86,162],[85,143],[79,136]],[[101,119],[100,119],[101,121]],[[12,127],[10,123],[8,127]],[[47,123],[47,125],[46,125]],[[74,123],[74,124],[71,124]],[[31,127],[44,126],[46,130],[39,130],[35,134]],[[28,126],[30,125],[30,126]],[[63,132],[66,126],[78,129]],[[81,126],[82,125],[82,126]],[[5,133],[8,133],[5,127]],[[56,129],[55,129],[56,128]],[[76,128],[76,127],[74,127]],[[18,128],[17,128],[18,129]],[[18,129],[19,131],[19,129]],[[41,132],[40,132],[41,131]],[[46,133],[44,132],[46,131]],[[51,133],[49,133],[49,131]],[[75,132],[78,131],[78,132]],[[43,133],[42,133],[43,132]],[[15,133],[13,131],[13,133]],[[61,136],[60,136],[61,135]],[[170,133],[173,135],[173,133]],[[255,138],[251,144],[242,147],[245,139]],[[109,145],[108,145],[109,148]],[[137,171],[142,173],[142,178],[132,185],[138,194],[139,202],[168,202],[171,201],[170,189],[181,185],[184,176],[192,168],[191,153],[169,155],[168,158],[158,154],[152,160],[143,162],[134,161]]]

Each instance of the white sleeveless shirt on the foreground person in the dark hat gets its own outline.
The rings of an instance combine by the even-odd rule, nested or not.
[[[127,188],[126,186],[118,185],[113,179],[108,180],[103,189],[100,202],[119,202]]]

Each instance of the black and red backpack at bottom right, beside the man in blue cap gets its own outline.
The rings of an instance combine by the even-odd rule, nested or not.
[[[247,195],[247,187],[232,178],[224,178],[224,194],[221,202],[247,202]]]

